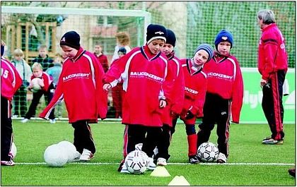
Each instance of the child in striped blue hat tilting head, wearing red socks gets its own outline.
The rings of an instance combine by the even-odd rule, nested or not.
[[[205,100],[207,76],[203,69],[214,54],[214,49],[209,44],[200,44],[194,52],[192,59],[182,59],[182,71],[185,77],[185,100],[180,114],[180,119],[184,121],[187,143],[188,157],[191,164],[199,162],[197,158],[197,135],[195,122],[197,118],[203,116],[203,105]],[[173,128],[175,131],[178,116],[173,118]]]

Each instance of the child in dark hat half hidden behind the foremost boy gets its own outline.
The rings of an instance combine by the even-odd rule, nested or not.
[[[165,84],[165,97],[167,98],[167,105],[163,109],[162,121],[162,134],[158,140],[158,154],[154,159],[157,159],[158,165],[166,165],[170,155],[168,148],[170,145],[171,134],[170,129],[173,127],[173,116],[180,115],[182,111],[182,104],[185,97],[185,81],[182,71],[182,64],[180,59],[175,56],[175,33],[172,30],[167,30],[166,43],[161,51],[168,58],[168,74],[166,76]]]

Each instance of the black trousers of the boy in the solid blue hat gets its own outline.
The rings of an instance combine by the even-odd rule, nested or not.
[[[229,99],[223,99],[219,95],[206,92],[204,102],[204,117],[199,124],[197,133],[197,147],[202,143],[209,141],[214,124],[217,123],[216,134],[218,135],[219,152],[228,157],[228,140],[230,126],[231,102]]]

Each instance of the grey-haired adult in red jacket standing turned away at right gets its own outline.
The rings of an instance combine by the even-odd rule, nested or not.
[[[282,102],[283,85],[288,70],[288,57],[284,36],[275,23],[271,10],[257,13],[262,36],[258,51],[258,70],[262,75],[262,109],[268,121],[272,135],[264,138],[264,144],[282,144],[284,139]]]

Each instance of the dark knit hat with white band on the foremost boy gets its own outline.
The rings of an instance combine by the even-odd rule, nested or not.
[[[163,25],[148,25],[146,29],[146,43],[149,44],[151,41],[161,39],[166,42],[167,30]]]

